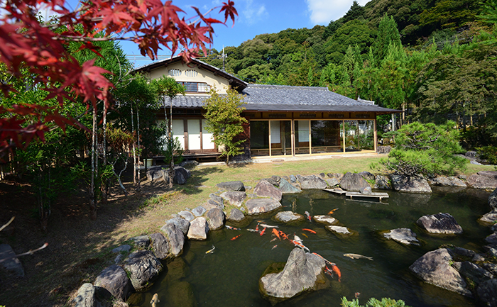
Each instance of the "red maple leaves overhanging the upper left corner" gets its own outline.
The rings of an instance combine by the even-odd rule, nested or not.
[[[44,5],[58,14],[53,22],[41,22],[36,8]],[[65,99],[79,97],[84,102],[108,103],[112,84],[102,74],[106,70],[95,67],[94,60],[79,63],[67,51],[70,41],[82,42],[84,48],[97,53],[92,43],[98,40],[131,40],[142,55],[156,58],[158,50],[166,48],[173,54],[182,50],[185,61],[206,52],[212,43],[212,24],[234,23],[238,16],[234,2],[224,2],[219,13],[224,12],[224,22],[206,18],[197,8],[197,16],[185,19],[185,12],[172,1],[160,0],[92,0],[82,1],[75,10],[65,0],[6,0],[0,17],[0,60],[13,76],[20,76],[21,69],[35,74],[35,85],[56,97],[60,104]],[[209,11],[210,12],[210,11]],[[97,33],[103,33],[97,36]],[[98,54],[98,53],[97,53]],[[13,91],[9,84],[1,84],[4,95]],[[39,123],[26,126],[22,115],[26,110],[38,116]],[[50,123],[75,124],[38,105],[0,108],[0,152],[13,145],[27,145],[33,138],[43,140]],[[40,114],[45,116],[40,116]],[[48,113],[48,116],[46,114]]]

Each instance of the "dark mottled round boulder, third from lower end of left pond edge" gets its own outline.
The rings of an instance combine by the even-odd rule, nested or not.
[[[163,266],[150,250],[132,252],[124,260],[124,269],[129,274],[131,284],[136,291],[145,289],[159,276]]]

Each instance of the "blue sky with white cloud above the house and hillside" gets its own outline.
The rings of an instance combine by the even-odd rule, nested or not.
[[[66,0],[71,6],[77,6],[77,0]],[[165,0],[163,0],[165,1]],[[222,6],[227,0],[173,0],[173,4],[185,11],[186,17],[194,16],[192,6],[202,12],[207,12],[216,6]],[[212,48],[222,50],[223,46],[239,46],[246,40],[251,40],[258,34],[278,33],[288,28],[312,28],[316,25],[327,26],[329,21],[337,20],[349,11],[354,0],[234,0],[236,18],[233,27],[228,21],[227,26],[214,25],[214,43]],[[357,0],[364,6],[369,0]],[[219,9],[209,14],[212,18],[222,20]],[[129,57],[136,67],[148,64],[141,57],[134,43],[122,42],[121,47],[126,55],[136,55],[136,60]],[[209,48],[209,46],[208,46]],[[168,50],[159,52],[159,56],[170,56]],[[147,58],[148,59],[148,58]]]

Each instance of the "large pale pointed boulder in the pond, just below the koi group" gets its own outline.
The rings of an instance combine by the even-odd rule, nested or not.
[[[305,291],[315,291],[327,284],[324,260],[294,248],[279,273],[266,274],[259,280],[259,290],[273,303],[293,298]]]

